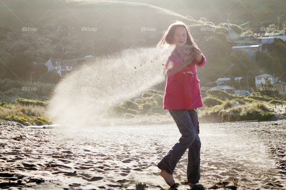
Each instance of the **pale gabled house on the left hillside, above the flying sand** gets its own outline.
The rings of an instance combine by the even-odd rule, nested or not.
[[[68,60],[61,60],[58,58],[50,58],[45,65],[48,67],[48,72],[55,71],[61,77],[66,77],[73,69],[74,64]]]

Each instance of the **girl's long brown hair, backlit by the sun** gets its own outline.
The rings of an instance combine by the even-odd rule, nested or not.
[[[167,29],[167,31],[165,32],[164,36],[162,37],[162,39],[160,40],[160,42],[157,44],[157,48],[162,46],[162,45],[171,45],[173,44],[173,38],[175,35],[175,31],[176,28],[178,26],[183,26],[185,27],[186,31],[187,31],[187,42],[186,45],[194,45],[197,47],[197,45],[195,44],[192,35],[189,33],[188,27],[186,26],[185,23],[181,22],[181,21],[177,21],[175,23],[172,23],[169,28]]]

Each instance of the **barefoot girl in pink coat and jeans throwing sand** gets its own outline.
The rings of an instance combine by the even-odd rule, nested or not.
[[[200,138],[197,108],[203,107],[196,66],[203,66],[206,58],[194,43],[186,24],[176,22],[169,26],[157,47],[165,45],[175,49],[165,64],[167,83],[164,96],[164,109],[169,110],[180,133],[179,141],[157,164],[160,175],[166,183],[174,187],[173,171],[188,151],[188,184],[198,183],[200,179]],[[187,48],[186,48],[187,47]],[[166,50],[166,49],[165,49]],[[163,51],[162,54],[164,54]]]

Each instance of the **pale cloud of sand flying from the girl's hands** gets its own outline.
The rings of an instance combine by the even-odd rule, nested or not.
[[[55,124],[84,127],[101,126],[111,118],[105,110],[140,95],[164,80],[168,55],[156,48],[122,51],[84,64],[62,80],[50,101],[49,115]],[[165,53],[166,52],[166,53]]]

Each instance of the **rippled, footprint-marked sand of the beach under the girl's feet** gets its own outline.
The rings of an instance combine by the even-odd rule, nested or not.
[[[286,120],[200,124],[204,189],[286,189]],[[29,139],[22,137],[26,135]],[[0,126],[2,189],[168,189],[156,164],[175,124],[30,129]],[[187,152],[174,171],[185,184]]]

